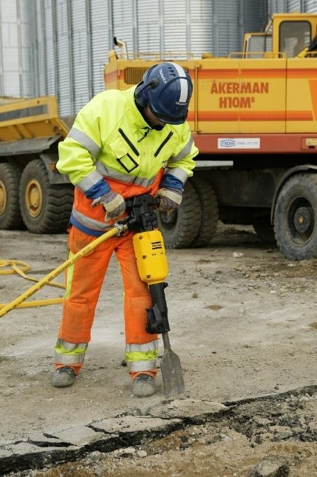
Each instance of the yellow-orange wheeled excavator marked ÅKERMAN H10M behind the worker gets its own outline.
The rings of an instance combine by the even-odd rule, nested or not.
[[[317,14],[275,14],[264,33],[245,34],[243,52],[159,59],[190,73],[188,123],[200,150],[184,190],[188,214],[160,214],[168,247],[208,245],[219,218],[253,224],[289,259],[317,256],[317,56],[307,47],[316,33]],[[137,84],[159,61],[110,54],[106,88]],[[193,237],[180,232],[193,226],[197,196]]]

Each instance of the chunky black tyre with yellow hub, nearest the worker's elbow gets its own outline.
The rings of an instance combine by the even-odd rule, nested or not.
[[[19,187],[19,203],[26,228],[32,233],[65,232],[72,210],[72,185],[49,183],[41,159],[25,167]]]

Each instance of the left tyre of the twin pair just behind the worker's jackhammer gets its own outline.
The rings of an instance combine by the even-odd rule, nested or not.
[[[158,228],[167,249],[186,249],[195,240],[200,229],[202,210],[200,199],[190,182],[184,187],[183,200],[173,212],[157,213]]]

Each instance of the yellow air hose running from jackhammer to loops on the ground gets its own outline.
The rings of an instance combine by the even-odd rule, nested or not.
[[[89,253],[90,251],[92,251],[93,249],[98,247],[99,244],[101,244],[102,242],[104,242],[108,238],[111,238],[114,235],[120,235],[120,233],[122,233],[122,231],[124,231],[124,230],[127,230],[127,226],[117,225],[117,226],[111,228],[111,230],[104,233],[100,237],[97,237],[97,239],[93,240],[90,244],[86,245],[86,247],[83,247],[83,249],[81,249],[81,250],[79,250],[79,252],[75,253],[75,255],[72,256],[72,258],[69,258],[68,260],[66,260],[64,263],[59,265],[59,267],[57,267],[52,272],[50,272],[49,274],[44,276],[44,278],[42,278],[41,280],[33,279],[33,278],[25,275],[24,278],[27,278],[27,279],[33,280],[33,281],[37,281],[38,283],[35,283],[35,285],[33,285],[31,288],[29,288],[29,290],[26,290],[26,292],[22,293],[22,295],[19,295],[19,297],[17,297],[15,300],[13,300],[13,302],[8,303],[8,304],[1,304],[0,305],[0,308],[1,308],[0,309],[0,318],[2,318],[4,315],[6,315],[6,313],[8,313],[8,311],[13,310],[13,308],[17,308],[18,306],[19,306],[19,308],[26,308],[27,306],[40,306],[40,304],[44,304],[43,302],[45,302],[45,304],[47,304],[47,305],[63,302],[63,298],[56,298],[56,299],[49,299],[49,300],[41,300],[41,301],[38,301],[38,302],[27,302],[27,303],[22,304],[22,302],[24,302],[24,300],[31,297],[31,295],[33,295],[33,293],[37,292],[44,285],[47,285],[51,280],[55,279],[56,276],[58,276],[61,272],[64,272],[64,270],[67,269],[68,267],[70,267],[70,265],[72,265],[74,262],[76,262],[76,260],[79,260],[79,258],[87,255],[87,253]],[[19,272],[17,272],[19,274],[21,274],[20,272],[22,272],[22,276],[24,275],[24,272],[26,272],[29,269],[29,264],[27,264],[25,262],[21,262],[19,260],[9,260],[9,261],[7,260],[6,262],[4,262],[4,260],[3,260],[3,261],[0,262],[0,267],[8,266],[9,264],[11,265],[12,270],[3,270],[3,271],[0,270],[0,274],[13,274],[13,273],[17,272],[17,269],[19,269],[19,267],[17,267],[17,265],[22,265],[22,269],[19,269]],[[51,283],[51,285],[58,286],[60,288],[65,288],[65,286],[62,283],[54,283],[53,282],[53,283]],[[38,304],[36,305],[36,303],[38,303]]]

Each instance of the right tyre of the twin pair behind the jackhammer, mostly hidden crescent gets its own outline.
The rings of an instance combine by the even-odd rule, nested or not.
[[[217,231],[219,209],[216,193],[205,179],[190,178],[195,191],[200,198],[200,207],[202,209],[202,221],[200,230],[192,243],[192,247],[207,247]]]

